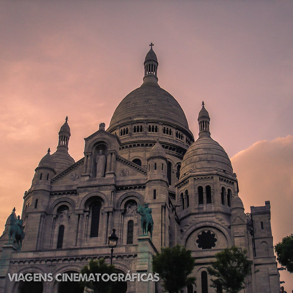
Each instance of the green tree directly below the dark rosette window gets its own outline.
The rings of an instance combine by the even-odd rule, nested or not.
[[[211,287],[222,286],[227,293],[237,293],[245,288],[245,278],[251,272],[252,261],[248,260],[246,251],[237,247],[225,248],[215,255],[216,260],[207,268],[212,279]]]

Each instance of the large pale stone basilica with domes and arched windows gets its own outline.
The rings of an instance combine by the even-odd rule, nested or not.
[[[211,137],[212,123],[221,122],[210,124],[208,105],[199,100],[194,138],[179,103],[158,84],[159,63],[150,46],[142,85],[120,102],[107,129],[101,122],[84,139],[84,156],[75,162],[69,155],[66,117],[56,151],[48,149],[36,166],[21,218],[13,209],[0,237],[1,292],[84,292],[55,276],[78,273],[91,259],[110,263],[112,229],[118,238],[113,265],[124,275],[152,273],[152,255],[180,244],[196,263],[195,282],[181,292],[222,292],[210,287],[207,267],[217,252],[237,246],[253,261],[241,292],[280,290],[270,202],[244,213],[231,161]],[[142,231],[140,206],[151,211],[152,235]],[[13,274],[28,273],[51,274],[52,280],[11,281]],[[160,293],[161,285],[127,280],[113,292]]]

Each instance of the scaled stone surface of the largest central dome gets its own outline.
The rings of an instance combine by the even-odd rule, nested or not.
[[[158,84],[142,84],[129,93],[117,106],[110,127],[123,120],[147,117],[160,121],[172,121],[188,129],[185,114],[175,98]]]

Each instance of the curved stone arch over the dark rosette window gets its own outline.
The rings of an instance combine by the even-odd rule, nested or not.
[[[187,229],[184,234],[182,235],[182,240],[181,243],[183,246],[186,246],[186,243],[189,239],[189,237],[191,236],[191,234],[193,234],[194,231],[202,229],[202,230],[208,230],[208,229],[217,229],[220,232],[223,233],[224,237],[226,238],[226,241],[228,243],[228,247],[232,246],[232,241],[231,241],[231,235],[229,233],[229,231],[222,225],[215,223],[215,222],[200,222],[197,223],[193,226],[191,226],[189,229]]]

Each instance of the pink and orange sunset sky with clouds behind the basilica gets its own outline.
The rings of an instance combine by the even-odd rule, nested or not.
[[[293,1],[1,1],[0,228],[56,150],[109,126],[142,84],[154,43],[162,88],[195,139],[202,100],[231,158],[245,211],[271,203],[274,244],[293,232]],[[51,154],[52,154],[51,153]],[[281,272],[288,292],[293,276]]]

